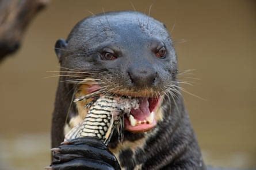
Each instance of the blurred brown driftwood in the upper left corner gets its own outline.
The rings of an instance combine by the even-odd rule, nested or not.
[[[24,31],[49,0],[0,0],[0,62],[19,48]]]

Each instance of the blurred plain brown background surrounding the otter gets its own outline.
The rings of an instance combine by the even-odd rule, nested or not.
[[[201,79],[184,88],[206,100],[184,96],[205,162],[256,167],[255,1],[132,3],[145,13],[154,3],[151,16],[173,29],[179,69],[195,69],[189,77]],[[51,1],[30,23],[18,53],[0,64],[0,169],[43,169],[49,164],[58,78],[44,77],[59,70],[55,41],[66,38],[89,11],[101,13],[102,8],[133,10],[126,0]]]

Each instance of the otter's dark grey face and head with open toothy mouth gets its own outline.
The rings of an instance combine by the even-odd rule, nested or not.
[[[174,93],[170,85],[177,74],[171,38],[161,22],[135,12],[96,15],[79,22],[55,49],[68,69],[63,73],[79,74],[63,77],[75,82],[68,88],[79,86],[77,96],[102,90],[138,97],[139,109],[125,118],[125,129],[136,133],[156,126],[165,96]],[[77,105],[78,112],[83,105]]]

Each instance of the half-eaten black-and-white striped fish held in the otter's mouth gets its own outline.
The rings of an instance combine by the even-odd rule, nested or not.
[[[82,96],[74,100],[78,102],[90,96]],[[93,101],[85,119],[71,129],[65,136],[65,141],[78,137],[98,137],[105,145],[108,145],[114,128],[117,128],[119,140],[123,140],[124,114],[129,114],[132,108],[139,107],[139,100],[132,97],[119,97],[113,94],[100,95]]]

